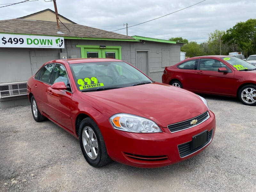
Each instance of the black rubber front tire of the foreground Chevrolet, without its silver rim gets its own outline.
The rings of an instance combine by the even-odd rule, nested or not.
[[[93,132],[95,133],[95,136],[97,138],[98,155],[95,159],[92,159],[91,157],[89,157],[84,148],[82,132],[85,127],[90,127],[93,130]],[[79,143],[80,143],[80,147],[81,147],[82,153],[84,155],[84,158],[90,165],[92,165],[93,167],[101,167],[101,166],[104,166],[104,165],[108,164],[109,162],[111,162],[111,159],[108,157],[106,145],[103,140],[100,129],[97,126],[97,124],[90,117],[87,117],[81,121],[80,126],[79,126],[78,138],[79,138]]]

